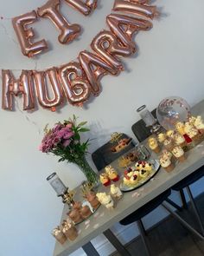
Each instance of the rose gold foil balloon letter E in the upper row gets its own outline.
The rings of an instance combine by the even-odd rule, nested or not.
[[[36,20],[37,14],[35,10],[21,16],[16,16],[12,19],[13,28],[16,32],[16,36],[24,56],[32,57],[41,53],[42,50],[48,48],[48,44],[44,39],[35,43],[31,42],[31,39],[34,38],[35,33],[32,28],[28,29],[27,26],[31,23],[35,23]]]

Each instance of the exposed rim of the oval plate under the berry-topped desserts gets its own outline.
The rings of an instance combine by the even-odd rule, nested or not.
[[[149,160],[148,162],[151,163],[152,166],[153,166],[153,169],[150,172],[150,174],[147,177],[145,177],[145,178],[141,179],[140,181],[138,181],[137,184],[132,186],[132,187],[125,185],[124,182],[122,181],[120,183],[121,191],[123,191],[123,192],[130,192],[130,191],[132,191],[132,190],[134,190],[134,189],[136,189],[138,187],[142,187],[145,183],[150,181],[157,174],[157,172],[159,171],[159,168],[160,168],[159,161],[152,159],[152,160]],[[123,179],[123,176],[122,176],[122,179]]]

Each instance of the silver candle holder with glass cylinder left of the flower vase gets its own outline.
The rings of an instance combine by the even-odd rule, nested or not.
[[[68,190],[68,187],[64,185],[64,183],[61,181],[60,177],[56,173],[50,174],[47,178],[47,181],[54,188],[57,196],[61,196],[62,202],[64,204],[67,203],[68,206],[73,206],[73,191]]]

